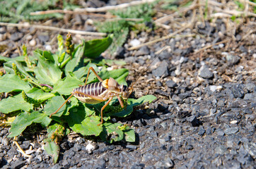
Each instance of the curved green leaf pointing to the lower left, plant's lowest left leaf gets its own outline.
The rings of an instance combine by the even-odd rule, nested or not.
[[[46,127],[51,123],[50,118],[47,117],[44,113],[39,113],[38,111],[33,111],[32,113],[21,112],[18,115],[13,123],[11,123],[10,134],[8,137],[15,137],[18,134],[21,134],[26,127],[31,125],[32,123],[40,123],[42,126]]]

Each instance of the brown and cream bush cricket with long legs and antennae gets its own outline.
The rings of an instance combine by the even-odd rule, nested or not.
[[[163,49],[161,49],[158,56],[165,49],[165,47],[163,47]],[[158,56],[156,56],[156,58],[158,58]],[[155,61],[156,58],[154,58],[153,61]],[[146,70],[148,70],[149,66],[153,63],[153,61],[151,61],[151,63],[149,63],[149,65],[147,65],[146,69],[141,73],[141,75],[143,75],[146,72]],[[88,80],[88,76],[90,74],[90,70],[93,71],[93,73],[96,75],[96,77],[98,78],[98,80],[100,82],[86,84],[87,80]],[[139,75],[139,77],[141,77],[141,75]],[[73,92],[71,92],[71,96],[69,96],[69,98],[66,99],[66,101],[64,101],[64,104],[66,104],[66,102],[69,101],[69,99],[72,96],[75,96],[78,100],[80,100],[81,102],[84,102],[86,104],[98,104],[98,103],[101,103],[103,101],[107,101],[107,103],[100,110],[101,121],[98,125],[101,125],[101,124],[103,124],[103,110],[104,110],[104,108],[108,104],[110,104],[110,101],[115,96],[117,96],[117,99],[118,99],[121,107],[124,108],[124,104],[122,102],[122,99],[127,100],[129,98],[129,95],[132,94],[133,86],[137,82],[137,80],[139,80],[139,77],[137,77],[136,80],[134,82],[132,82],[132,85],[128,88],[126,85],[118,84],[117,81],[115,81],[112,77],[110,77],[109,79],[103,80],[95,72],[93,67],[90,67],[88,69],[88,73],[87,73],[87,77],[86,77],[86,83],[81,87],[73,89]],[[64,104],[62,104],[62,106],[64,106]],[[59,109],[62,108],[62,106],[60,106],[57,109],[57,111],[52,113],[50,115],[50,118],[52,117],[52,115],[57,113],[59,111]]]

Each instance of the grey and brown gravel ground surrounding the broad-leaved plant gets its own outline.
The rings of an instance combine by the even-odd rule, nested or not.
[[[192,12],[187,11],[186,17],[179,19],[185,24],[192,19]],[[74,17],[71,22],[77,20]],[[54,26],[62,24],[62,21],[52,22]],[[54,164],[43,149],[44,132],[37,134],[37,138],[26,134],[18,137],[18,144],[32,156],[27,158],[17,151],[12,139],[6,138],[8,128],[1,127],[0,167],[255,168],[255,34],[243,39],[250,30],[256,30],[255,18],[248,18],[239,26],[225,18],[214,23],[195,20],[192,27],[174,38],[127,50],[138,42],[149,42],[178,30],[175,24],[166,25],[172,28],[141,32],[128,39],[115,54],[115,58],[127,62],[124,67],[130,70],[131,83],[158,56],[156,51],[168,46],[140,77],[132,96],[153,94],[158,99],[139,106],[128,118],[113,119],[134,128],[134,144],[107,144],[71,133],[60,143],[59,161]],[[83,26],[83,30],[88,28]],[[76,27],[79,23],[72,28]],[[184,37],[190,34],[195,35]],[[33,28],[0,27],[0,44],[8,46],[1,55],[18,56],[16,46],[20,44],[28,44],[28,51],[35,48],[54,51],[56,36],[57,32]],[[75,42],[80,38],[74,35]],[[223,40],[226,42],[214,45]],[[209,45],[212,46],[197,52]]]

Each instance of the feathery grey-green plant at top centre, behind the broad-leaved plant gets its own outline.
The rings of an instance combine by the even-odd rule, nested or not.
[[[129,35],[129,30],[132,30],[132,27],[141,23],[150,22],[152,16],[156,13],[153,10],[153,4],[142,4],[139,6],[131,6],[122,10],[110,11],[112,15],[116,15],[116,20],[106,22],[95,23],[100,32],[112,33],[113,44],[110,46],[110,53],[116,51],[117,46],[122,46]],[[127,18],[140,18],[139,21],[127,20]],[[138,28],[138,27],[136,27]],[[144,27],[145,28],[145,27]],[[149,29],[149,28],[148,28]]]

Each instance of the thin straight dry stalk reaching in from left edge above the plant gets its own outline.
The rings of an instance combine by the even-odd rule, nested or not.
[[[37,29],[42,29],[42,30],[56,30],[59,32],[70,32],[72,34],[79,34],[79,35],[88,35],[88,36],[99,36],[99,37],[104,37],[107,34],[102,33],[102,32],[86,32],[82,30],[69,30],[69,29],[64,29],[64,28],[59,28],[59,27],[50,27],[50,26],[44,26],[44,25],[30,25],[27,23],[0,23],[1,26],[11,26],[11,27],[34,27]]]

